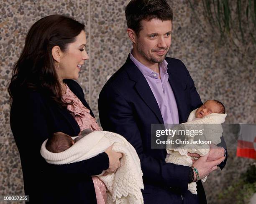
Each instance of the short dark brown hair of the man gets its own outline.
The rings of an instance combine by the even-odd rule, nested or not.
[[[131,0],[125,7],[127,27],[134,30],[137,36],[142,30],[141,21],[173,19],[171,7],[166,0]]]

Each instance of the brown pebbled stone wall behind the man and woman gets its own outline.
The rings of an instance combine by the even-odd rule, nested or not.
[[[202,3],[196,10],[201,25],[187,0],[168,0],[174,11],[169,57],[187,66],[202,101],[217,99],[225,104],[226,123],[256,123],[255,45],[220,45],[218,35],[204,20]],[[108,77],[125,62],[132,44],[126,34],[125,5],[128,0],[0,0],[0,195],[22,195],[20,157],[10,129],[7,87],[14,63],[22,51],[26,33],[41,17],[63,14],[85,23],[87,52],[78,82],[97,121],[98,96]],[[236,157],[230,148],[226,167],[213,172],[204,187],[208,203],[223,192],[252,159]]]

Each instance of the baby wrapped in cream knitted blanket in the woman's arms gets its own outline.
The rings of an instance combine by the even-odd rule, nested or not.
[[[111,147],[113,151],[123,154],[123,157],[115,173],[104,175],[105,171],[102,171],[101,174],[92,176],[97,204],[143,204],[143,173],[134,147],[120,134],[100,130],[88,134],[89,132],[82,132],[82,136],[72,138],[56,132],[42,143],[41,156],[49,164],[71,164],[95,157]],[[74,138],[79,138],[79,141]]]

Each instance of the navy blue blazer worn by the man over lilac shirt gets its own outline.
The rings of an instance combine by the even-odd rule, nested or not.
[[[179,123],[187,122],[189,113],[202,101],[182,61],[165,60]],[[166,149],[151,149],[151,124],[164,121],[145,77],[129,56],[100,92],[99,115],[104,130],[123,135],[136,149],[143,171],[145,203],[206,203],[201,182],[197,182],[197,195],[187,190],[189,167],[166,163]]]

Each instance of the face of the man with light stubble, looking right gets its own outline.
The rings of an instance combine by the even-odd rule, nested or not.
[[[142,30],[136,38],[139,61],[163,62],[171,45],[172,21],[152,19],[141,21]]]

